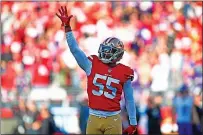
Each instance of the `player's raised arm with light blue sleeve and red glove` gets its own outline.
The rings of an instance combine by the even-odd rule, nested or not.
[[[59,13],[60,15],[58,15],[57,13],[56,15],[61,19],[62,26],[65,27],[66,40],[70,51],[75,57],[78,65],[86,72],[87,75],[89,75],[91,72],[92,63],[87,58],[85,53],[78,47],[77,41],[72,33],[70,20],[73,16],[68,15],[66,7],[61,7],[61,9],[59,9]]]

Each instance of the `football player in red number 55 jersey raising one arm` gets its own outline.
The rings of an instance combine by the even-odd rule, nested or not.
[[[87,134],[122,134],[120,100],[122,92],[126,100],[130,126],[123,132],[134,134],[137,129],[136,109],[133,98],[133,70],[118,61],[123,57],[124,45],[115,37],[101,43],[98,56],[87,57],[78,47],[73,36],[66,7],[59,9],[62,26],[65,27],[67,43],[78,65],[85,71],[88,83],[89,120]]]

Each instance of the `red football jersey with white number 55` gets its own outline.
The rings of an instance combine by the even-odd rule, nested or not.
[[[89,107],[100,111],[119,111],[123,85],[128,79],[133,79],[133,70],[123,64],[109,67],[96,55],[88,59],[92,62],[87,84]]]

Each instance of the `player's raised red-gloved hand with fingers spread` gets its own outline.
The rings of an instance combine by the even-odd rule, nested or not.
[[[60,15],[56,13],[58,18],[61,19],[62,26],[68,26],[70,27],[70,19],[73,17],[73,15],[68,15],[66,6],[62,7],[58,10]]]

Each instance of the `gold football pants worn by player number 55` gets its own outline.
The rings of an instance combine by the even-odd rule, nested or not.
[[[89,115],[86,134],[122,134],[120,114],[105,118]]]

